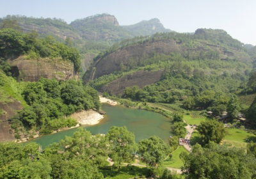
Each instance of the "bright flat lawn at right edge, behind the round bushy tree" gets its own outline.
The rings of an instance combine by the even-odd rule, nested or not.
[[[246,139],[256,142],[256,136],[246,132],[246,130],[241,130],[239,128],[228,128],[228,134],[225,136],[223,143],[232,144],[232,146],[246,148],[248,141]]]

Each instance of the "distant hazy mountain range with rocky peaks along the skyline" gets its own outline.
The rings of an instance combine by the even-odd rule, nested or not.
[[[131,26],[119,26],[115,16],[108,13],[76,19],[70,24],[67,24],[63,19],[44,19],[43,17],[34,18],[23,15],[7,15],[0,19],[0,23],[3,20],[17,20],[25,33],[35,30],[43,37],[51,35],[61,42],[64,42],[65,38],[69,37],[79,44],[84,44],[81,40],[113,44],[134,36],[170,31],[165,29],[158,19],[143,20]]]

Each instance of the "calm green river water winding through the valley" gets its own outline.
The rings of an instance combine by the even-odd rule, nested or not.
[[[161,114],[140,109],[129,109],[120,105],[103,104],[102,110],[107,114],[97,125],[83,125],[86,130],[92,134],[107,134],[113,125],[122,127],[126,126],[129,131],[134,132],[135,140],[138,143],[141,139],[150,136],[159,136],[164,141],[168,141],[171,133],[171,123],[168,118]],[[51,143],[58,143],[65,136],[72,136],[77,128],[57,132],[56,134],[45,135],[33,139],[32,141],[42,145],[42,148]]]

